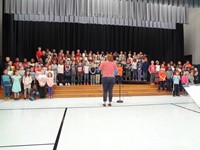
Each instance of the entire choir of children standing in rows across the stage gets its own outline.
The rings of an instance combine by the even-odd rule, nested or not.
[[[161,87],[163,89],[167,87],[169,91],[172,90],[172,87],[177,89],[175,83],[181,78],[176,77],[176,74],[180,77],[184,69],[187,69],[187,75],[189,68],[190,75],[193,72],[194,77],[198,76],[198,71],[189,62],[182,66],[181,62],[178,62],[177,65],[172,61],[167,65],[165,62],[159,65],[158,61],[156,64],[151,61],[149,65],[147,55],[142,52],[132,54],[130,51],[127,54],[121,51],[118,54],[117,52],[93,53],[90,51],[87,53],[84,50],[81,54],[78,49],[76,53],[75,51],[70,53],[68,50],[66,53],[63,50],[56,53],[55,49],[50,51],[38,47],[36,61],[34,58],[30,61],[24,58],[21,62],[19,58],[16,58],[13,63],[9,57],[6,57],[4,75],[1,77],[5,99],[9,99],[10,93],[13,92],[15,100],[18,100],[19,93],[22,91],[24,99],[28,98],[27,95],[31,100],[34,100],[38,95],[40,98],[45,98],[47,91],[49,98],[53,98],[54,85],[100,84],[102,72],[100,72],[99,66],[102,61],[106,60],[107,54],[112,54],[117,64],[115,75],[118,79],[147,81],[149,72],[151,84],[159,82],[159,90]]]

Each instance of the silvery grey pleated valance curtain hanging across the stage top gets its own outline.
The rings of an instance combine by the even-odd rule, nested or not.
[[[175,29],[188,23],[189,0],[4,0],[16,21]]]

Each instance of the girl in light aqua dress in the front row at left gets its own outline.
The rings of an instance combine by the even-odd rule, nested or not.
[[[13,80],[12,92],[14,92],[14,100],[19,100],[19,92],[21,92],[21,76],[19,75],[18,70],[14,72],[12,80]]]

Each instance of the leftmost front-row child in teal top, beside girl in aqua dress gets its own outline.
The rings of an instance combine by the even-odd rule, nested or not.
[[[10,99],[10,90],[12,85],[12,79],[10,75],[8,75],[8,70],[5,69],[4,74],[1,76],[1,86],[4,90],[4,99],[9,100]]]

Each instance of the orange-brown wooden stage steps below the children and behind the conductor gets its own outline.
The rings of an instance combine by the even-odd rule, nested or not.
[[[121,86],[121,96],[155,96],[170,95],[171,92],[158,92],[157,85],[150,84],[123,84]],[[115,85],[113,95],[119,96],[119,85]],[[0,98],[3,98],[3,89],[0,90]],[[13,96],[12,96],[13,97]],[[54,86],[53,97],[55,98],[76,98],[76,97],[102,97],[101,85],[71,85]],[[23,98],[23,95],[21,95]]]

